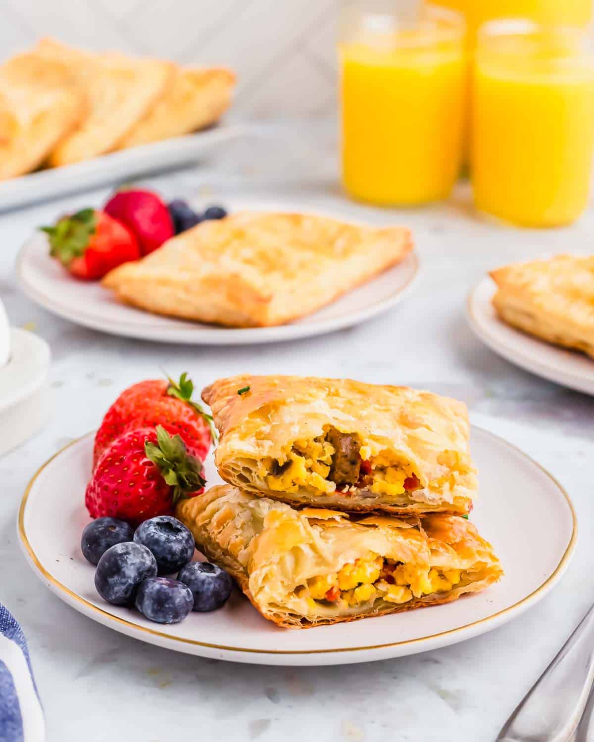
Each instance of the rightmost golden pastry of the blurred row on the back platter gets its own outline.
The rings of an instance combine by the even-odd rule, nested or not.
[[[168,91],[120,142],[120,149],[180,137],[210,126],[231,104],[235,73],[226,68],[178,68]]]

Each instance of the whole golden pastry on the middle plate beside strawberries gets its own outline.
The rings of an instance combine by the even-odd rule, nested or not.
[[[227,326],[290,322],[399,263],[407,229],[311,214],[240,212],[206,221],[103,280],[122,301]]]

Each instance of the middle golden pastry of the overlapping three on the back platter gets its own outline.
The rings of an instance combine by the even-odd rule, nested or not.
[[[69,165],[114,150],[166,93],[175,69],[155,59],[86,53],[53,39],[42,39],[34,53],[66,65],[87,98],[87,115],[50,154],[50,165]]]

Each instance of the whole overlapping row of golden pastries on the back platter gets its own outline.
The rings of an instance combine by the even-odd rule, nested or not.
[[[235,75],[52,39],[0,65],[0,180],[177,137],[229,106]]]

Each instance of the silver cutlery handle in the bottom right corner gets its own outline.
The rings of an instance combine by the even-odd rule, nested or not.
[[[594,605],[503,726],[497,742],[594,742]],[[593,695],[594,698],[594,695]],[[590,715],[592,712],[593,715]]]

